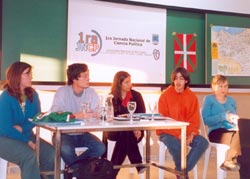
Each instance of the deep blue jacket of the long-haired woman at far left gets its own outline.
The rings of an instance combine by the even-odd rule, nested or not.
[[[0,137],[8,137],[23,142],[28,142],[34,124],[28,119],[41,111],[40,100],[37,92],[34,93],[33,102],[26,99],[24,112],[18,100],[4,90],[0,95]],[[20,133],[13,126],[19,125],[23,132]]]

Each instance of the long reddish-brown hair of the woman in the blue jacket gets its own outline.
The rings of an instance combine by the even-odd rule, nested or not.
[[[19,102],[22,102],[20,89],[21,75],[27,68],[29,69],[29,72],[32,69],[31,65],[28,63],[15,62],[6,70],[6,81],[3,87],[6,88],[7,92],[11,96],[14,96]],[[33,101],[34,89],[32,87],[25,88],[24,94],[31,102]]]

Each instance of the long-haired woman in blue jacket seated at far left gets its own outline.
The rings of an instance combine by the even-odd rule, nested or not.
[[[35,125],[28,120],[41,112],[38,93],[31,87],[31,69],[27,63],[13,63],[0,95],[0,157],[20,167],[22,179],[41,178],[32,132]],[[42,140],[40,147],[41,170],[52,171],[54,149]]]

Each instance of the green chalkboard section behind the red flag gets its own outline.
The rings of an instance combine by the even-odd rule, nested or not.
[[[191,84],[205,82],[205,15],[203,13],[167,10],[167,44],[166,44],[166,75],[167,83],[171,83],[170,74],[175,67],[174,63],[174,35],[195,34],[196,36],[196,63],[195,71],[190,73]]]

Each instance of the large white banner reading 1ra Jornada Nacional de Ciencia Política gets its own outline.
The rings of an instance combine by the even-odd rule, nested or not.
[[[88,64],[91,82],[112,82],[123,70],[133,83],[165,83],[165,9],[68,2],[68,65]]]

